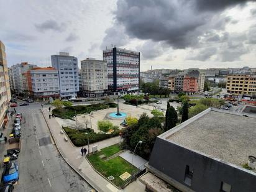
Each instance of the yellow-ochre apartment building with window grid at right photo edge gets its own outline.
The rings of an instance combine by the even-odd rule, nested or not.
[[[227,93],[256,95],[256,75],[227,76]]]

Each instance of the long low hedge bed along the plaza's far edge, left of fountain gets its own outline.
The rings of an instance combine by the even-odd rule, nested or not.
[[[62,107],[60,109],[53,109],[52,113],[56,117],[60,117],[63,119],[72,119],[75,115],[78,114],[89,114],[92,111],[98,111],[100,109],[106,109],[107,107],[116,107],[116,103],[109,104],[90,104],[88,106],[70,106],[70,107]]]

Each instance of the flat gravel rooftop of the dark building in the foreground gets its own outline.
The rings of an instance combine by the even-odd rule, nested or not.
[[[242,167],[249,155],[256,156],[256,116],[207,109],[160,137]]]

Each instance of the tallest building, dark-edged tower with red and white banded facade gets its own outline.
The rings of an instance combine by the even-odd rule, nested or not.
[[[127,94],[139,91],[140,52],[123,48],[103,50],[103,60],[107,62],[109,94]]]

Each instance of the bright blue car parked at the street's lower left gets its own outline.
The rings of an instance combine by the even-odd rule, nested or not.
[[[17,180],[19,180],[18,165],[12,162],[4,167],[4,172],[2,173],[2,181],[4,183],[15,183]]]

